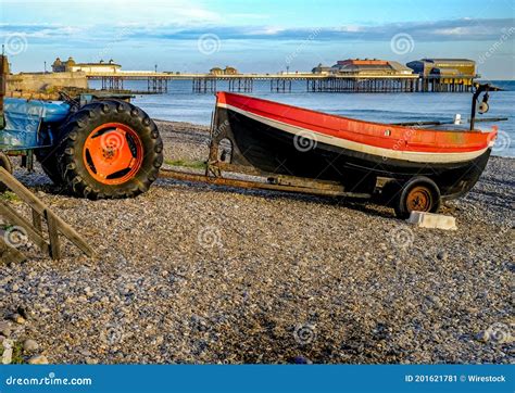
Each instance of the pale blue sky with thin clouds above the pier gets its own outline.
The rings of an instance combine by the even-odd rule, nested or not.
[[[13,72],[56,56],[123,69],[311,71],[349,58],[466,58],[515,79],[513,0],[0,0]]]

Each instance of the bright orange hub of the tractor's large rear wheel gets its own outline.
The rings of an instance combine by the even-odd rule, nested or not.
[[[105,123],[86,138],[83,159],[95,180],[109,186],[122,185],[141,168],[143,145],[133,128]]]

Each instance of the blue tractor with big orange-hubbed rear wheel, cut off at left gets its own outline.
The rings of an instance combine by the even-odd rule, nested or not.
[[[120,96],[83,94],[62,101],[4,98],[8,61],[0,68],[0,165],[34,159],[71,194],[97,199],[146,192],[163,163],[154,122]]]

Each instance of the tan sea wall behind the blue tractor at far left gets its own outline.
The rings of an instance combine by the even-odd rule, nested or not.
[[[22,92],[52,92],[60,88],[88,88],[85,73],[34,73],[8,75],[8,93]]]

